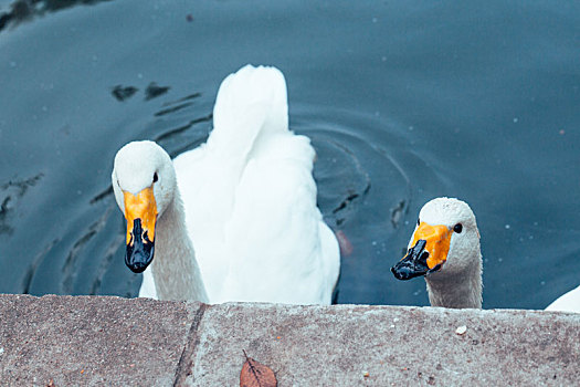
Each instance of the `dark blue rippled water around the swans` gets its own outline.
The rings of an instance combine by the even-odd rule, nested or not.
[[[580,2],[0,0],[0,292],[135,296],[117,149],[203,142],[221,80],[278,66],[352,252],[340,303],[428,304],[399,282],[421,206],[472,206],[484,307],[580,284]]]

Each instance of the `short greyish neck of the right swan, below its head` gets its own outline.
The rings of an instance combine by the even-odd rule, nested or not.
[[[465,271],[425,276],[431,306],[482,308],[482,258]]]

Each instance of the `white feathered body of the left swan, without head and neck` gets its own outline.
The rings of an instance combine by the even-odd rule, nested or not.
[[[211,302],[330,302],[338,244],[287,114],[283,74],[244,66],[220,86],[208,142],[173,161]]]

